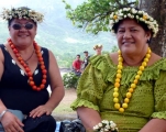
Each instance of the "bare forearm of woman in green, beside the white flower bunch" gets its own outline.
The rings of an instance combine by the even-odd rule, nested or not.
[[[101,122],[99,112],[93,109],[79,107],[77,109],[77,113],[88,132],[91,132],[92,128],[99,122]]]

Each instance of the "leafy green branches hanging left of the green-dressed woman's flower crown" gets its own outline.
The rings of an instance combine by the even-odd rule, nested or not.
[[[98,34],[108,32],[109,16],[112,12],[124,7],[135,7],[139,0],[88,0],[74,10],[65,0],[66,15],[76,28],[86,29],[87,32]]]

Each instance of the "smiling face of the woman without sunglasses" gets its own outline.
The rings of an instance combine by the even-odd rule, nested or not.
[[[141,54],[151,37],[145,30],[133,19],[123,20],[117,32],[119,48],[124,54]]]

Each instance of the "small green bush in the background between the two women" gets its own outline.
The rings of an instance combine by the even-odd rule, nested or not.
[[[76,88],[79,77],[74,73],[67,73],[63,76],[63,82],[65,88]]]

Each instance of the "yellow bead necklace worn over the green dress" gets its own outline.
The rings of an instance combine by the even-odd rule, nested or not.
[[[118,109],[120,112],[124,112],[124,109],[128,108],[132,94],[134,92],[134,89],[136,88],[136,84],[139,82],[139,79],[141,75],[143,74],[143,70],[147,66],[150,57],[151,57],[151,48],[148,47],[147,53],[144,57],[144,61],[142,65],[139,67],[137,74],[133,82],[131,84],[130,88],[128,89],[125,99],[123,100],[122,105],[120,105],[118,97],[119,97],[120,80],[122,78],[121,74],[122,74],[122,68],[123,68],[123,57],[122,57],[121,51],[119,51],[119,58],[118,58],[119,64],[118,64],[118,70],[117,70],[117,78],[114,82],[113,102],[114,102],[114,108]]]

